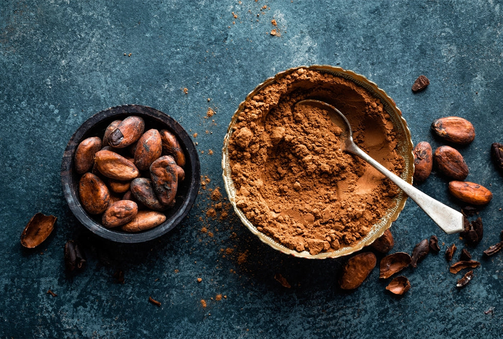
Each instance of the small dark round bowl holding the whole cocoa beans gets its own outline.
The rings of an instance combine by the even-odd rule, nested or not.
[[[82,207],[78,194],[80,175],[74,169],[74,154],[78,144],[89,137],[103,138],[105,129],[114,120],[122,120],[128,116],[139,116],[145,121],[145,131],[149,129],[166,129],[177,136],[185,151],[186,164],[185,180],[178,188],[175,206],[164,211],[166,221],[157,227],[138,233],[126,233],[120,229],[107,229],[101,225],[101,215],[89,214]],[[73,214],[91,232],[96,235],[119,243],[141,243],[158,238],[173,230],[192,208],[196,200],[200,183],[200,164],[196,148],[183,127],[170,116],[160,110],[141,106],[123,105],[111,107],[98,112],[83,123],[73,134],[66,146],[61,163],[61,183],[63,193]]]

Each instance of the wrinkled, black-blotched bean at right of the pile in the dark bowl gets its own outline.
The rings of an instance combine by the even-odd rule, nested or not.
[[[154,192],[159,201],[166,206],[175,204],[179,180],[185,179],[185,172],[172,156],[164,155],[150,165],[150,177]]]

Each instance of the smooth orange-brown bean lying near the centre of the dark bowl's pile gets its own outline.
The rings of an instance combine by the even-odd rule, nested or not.
[[[131,161],[111,151],[96,153],[95,164],[101,174],[116,180],[132,180],[140,174]]]

